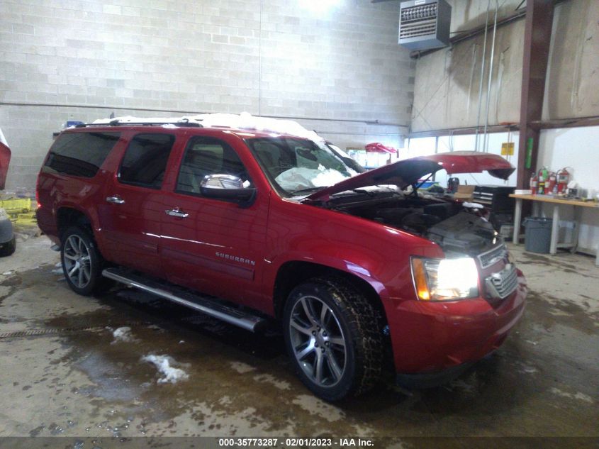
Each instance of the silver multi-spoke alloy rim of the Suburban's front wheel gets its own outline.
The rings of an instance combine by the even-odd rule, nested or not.
[[[291,347],[308,378],[319,387],[336,385],[345,372],[347,349],[332,309],[315,296],[302,296],[289,320]]]

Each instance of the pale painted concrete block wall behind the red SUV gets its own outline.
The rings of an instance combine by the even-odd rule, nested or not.
[[[397,1],[3,0],[7,189],[33,189],[62,123],[111,112],[248,111],[401,146],[415,63],[397,33]]]

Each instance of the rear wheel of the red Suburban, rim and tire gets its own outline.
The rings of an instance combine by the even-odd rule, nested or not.
[[[89,296],[103,288],[103,260],[94,239],[84,229],[72,226],[62,235],[60,262],[73,292]]]

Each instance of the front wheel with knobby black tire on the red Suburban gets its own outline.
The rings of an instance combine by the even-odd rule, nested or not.
[[[293,289],[284,337],[301,381],[325,401],[367,392],[381,377],[380,323],[364,294],[344,279],[315,278]]]

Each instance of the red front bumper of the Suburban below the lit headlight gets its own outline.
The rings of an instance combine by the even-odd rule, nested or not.
[[[396,371],[431,375],[480,360],[499,348],[520,319],[526,292],[519,272],[515,291],[497,302],[402,301],[388,317]]]

